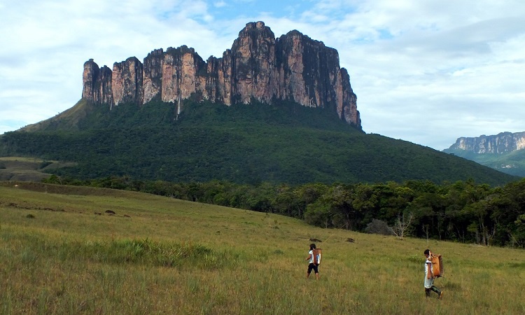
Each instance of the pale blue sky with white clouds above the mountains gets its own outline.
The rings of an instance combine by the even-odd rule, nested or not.
[[[0,134],[76,104],[88,59],[221,57],[257,21],[339,52],[367,133],[441,151],[525,131],[523,0],[0,0]]]

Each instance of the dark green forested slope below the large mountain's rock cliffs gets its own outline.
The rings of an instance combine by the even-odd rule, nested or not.
[[[173,104],[73,109],[0,137],[0,156],[78,163],[52,171],[92,179],[358,183],[406,180],[500,185],[515,178],[407,141],[365,134],[323,109],[297,104]],[[81,115],[80,115],[81,113]]]

